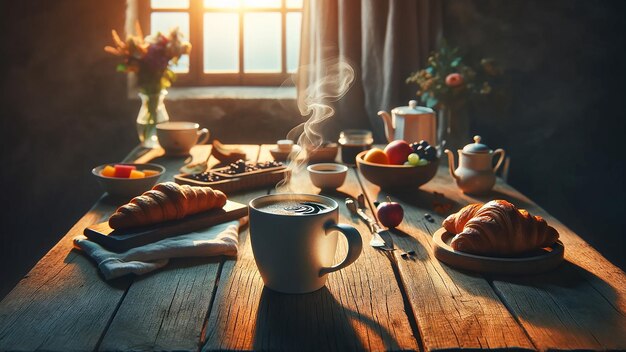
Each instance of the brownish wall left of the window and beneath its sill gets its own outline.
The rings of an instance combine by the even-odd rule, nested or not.
[[[126,1],[3,1],[0,297],[93,205],[96,165],[137,143],[138,99],[103,50]],[[290,100],[170,100],[226,143],[269,143],[302,121]]]

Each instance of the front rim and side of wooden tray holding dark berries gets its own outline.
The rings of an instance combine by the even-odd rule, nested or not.
[[[261,173],[250,173],[239,177],[233,177],[229,179],[214,181],[214,182],[204,182],[198,181],[191,178],[188,178],[188,174],[179,174],[174,176],[174,181],[181,185],[190,185],[190,186],[204,186],[211,187],[213,189],[218,189],[226,194],[230,194],[233,192],[245,191],[249,189],[255,189],[266,186],[274,186],[278,182],[282,181],[289,170],[285,167],[282,167],[278,170],[269,170],[267,172]]]

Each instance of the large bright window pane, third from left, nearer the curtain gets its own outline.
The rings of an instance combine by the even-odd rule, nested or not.
[[[244,71],[280,72],[280,13],[244,15]]]

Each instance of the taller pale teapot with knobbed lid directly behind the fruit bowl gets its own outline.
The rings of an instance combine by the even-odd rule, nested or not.
[[[431,108],[417,106],[417,101],[409,101],[409,106],[399,106],[391,110],[390,116],[386,111],[379,111],[385,122],[387,141],[398,139],[409,143],[425,140],[431,145],[437,145],[437,117]]]

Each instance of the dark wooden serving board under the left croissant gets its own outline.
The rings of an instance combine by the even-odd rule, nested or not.
[[[85,228],[83,233],[91,241],[112,251],[122,252],[167,237],[239,219],[247,214],[248,206],[229,200],[222,209],[191,215],[184,219],[127,230],[113,230],[109,227],[109,222],[105,221]]]

